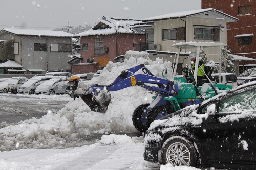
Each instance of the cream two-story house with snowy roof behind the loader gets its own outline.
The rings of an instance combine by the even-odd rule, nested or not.
[[[153,55],[157,56],[158,51],[165,51],[166,55],[163,56],[161,54],[161,58],[173,62],[174,57],[172,56],[177,52],[177,48],[172,47],[175,43],[221,42],[226,44],[226,31],[220,33],[217,18],[223,18],[222,29],[226,29],[227,24],[230,22],[238,21],[237,18],[231,15],[208,8],[145,18],[142,19],[142,22],[138,24],[137,28],[146,29],[147,50],[155,50],[155,52],[150,51],[152,57]],[[138,44],[135,44],[135,46],[138,46]],[[196,51],[196,49],[191,49],[191,51]],[[219,63],[219,47],[206,48],[205,53],[208,61],[214,60],[216,63]],[[181,65],[190,64],[190,59],[188,57],[180,58],[179,63]]]

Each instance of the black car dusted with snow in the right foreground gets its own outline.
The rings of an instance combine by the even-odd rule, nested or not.
[[[144,159],[176,166],[256,169],[256,81],[155,120]]]

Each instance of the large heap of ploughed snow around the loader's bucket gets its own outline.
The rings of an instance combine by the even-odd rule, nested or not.
[[[80,81],[79,88],[87,88],[93,84],[111,84],[125,69],[139,64],[146,67],[156,76],[170,62],[161,59],[151,61],[135,58],[132,55],[123,63],[109,62],[99,78],[91,81]],[[142,73],[142,71],[138,71]],[[167,77],[167,76],[166,76]],[[152,94],[139,86],[128,87],[111,92],[111,103],[106,113],[90,110],[81,98],[70,99],[65,108],[57,113],[48,112],[40,119],[32,118],[15,126],[0,129],[0,151],[26,148],[65,148],[79,145],[88,135],[138,133],[132,123],[133,111],[141,104],[151,103]]]

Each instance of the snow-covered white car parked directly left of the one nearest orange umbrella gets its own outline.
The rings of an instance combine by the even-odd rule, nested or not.
[[[35,89],[40,84],[57,76],[34,76],[19,87],[20,94],[36,94]]]

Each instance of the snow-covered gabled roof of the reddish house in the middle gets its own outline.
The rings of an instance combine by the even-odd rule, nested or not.
[[[76,34],[76,36],[110,35],[115,33],[133,34],[131,27],[135,26],[135,23],[139,22],[141,22],[141,19],[113,18],[103,16],[102,20],[93,28]],[[135,34],[144,34],[144,32],[141,30],[135,30]]]

